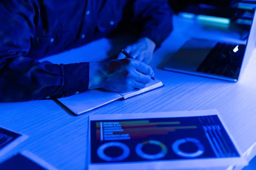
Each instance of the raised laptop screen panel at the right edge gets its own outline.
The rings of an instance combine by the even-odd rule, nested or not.
[[[246,68],[247,63],[249,62],[249,58],[251,57],[255,46],[256,46],[256,10],[254,9],[253,20],[250,27],[248,39],[246,42],[246,47],[245,47],[245,52],[244,52],[244,57],[243,57],[239,77],[241,77],[241,75],[244,73],[244,69]]]

